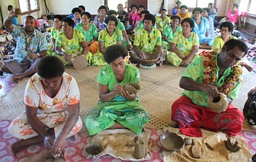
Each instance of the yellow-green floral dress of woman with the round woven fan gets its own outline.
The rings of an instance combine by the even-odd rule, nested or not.
[[[83,48],[80,45],[80,42],[83,42],[83,41],[85,41],[83,33],[81,31],[78,31],[77,29],[73,29],[72,39],[67,39],[67,37],[63,32],[61,32],[57,36],[56,47],[61,47],[61,50],[64,51],[65,53],[68,53],[69,56],[81,55]],[[89,58],[91,57],[91,55],[92,54],[90,52],[86,54],[87,61],[89,61]],[[61,55],[56,55],[56,56],[60,58],[65,65],[69,63],[68,61],[65,61],[63,56]]]

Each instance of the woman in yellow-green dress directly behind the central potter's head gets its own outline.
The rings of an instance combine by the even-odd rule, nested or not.
[[[106,65],[106,61],[103,58],[103,53],[105,49],[110,45],[119,44],[122,45],[122,34],[121,31],[117,29],[118,21],[114,16],[108,16],[105,19],[105,24],[107,28],[104,28],[102,31],[99,31],[99,50],[97,53],[94,53],[91,58],[91,64],[95,66]]]

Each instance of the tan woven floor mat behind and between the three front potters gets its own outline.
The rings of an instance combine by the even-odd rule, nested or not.
[[[78,82],[80,89],[80,116],[82,119],[89,109],[97,105],[99,99],[97,75],[102,67],[89,66],[85,70],[77,71],[72,66],[67,66],[66,72],[72,74]],[[170,66],[164,64],[155,69],[140,70],[140,86],[138,93],[140,104],[148,111],[150,120],[147,128],[163,128],[170,126],[170,108],[176,99],[181,96],[182,89],[178,82],[184,72],[184,67]],[[243,109],[247,99],[247,92],[254,88],[256,73],[244,71],[244,80],[238,96],[233,104]],[[24,111],[23,92],[26,87],[26,78],[18,83],[6,96],[0,99],[0,119],[13,120]],[[248,128],[246,127],[246,130]]]

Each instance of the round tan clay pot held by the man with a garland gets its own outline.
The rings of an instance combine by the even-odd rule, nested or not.
[[[214,112],[225,112],[228,107],[228,99],[224,93],[219,93],[219,98],[211,101],[207,99],[208,107]]]

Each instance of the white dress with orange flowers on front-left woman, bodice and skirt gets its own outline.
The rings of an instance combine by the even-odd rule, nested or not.
[[[58,136],[68,117],[67,106],[79,104],[80,102],[78,84],[74,77],[64,72],[59,93],[50,98],[45,93],[41,80],[42,78],[38,74],[34,74],[30,78],[24,92],[24,104],[28,109],[37,109],[38,119],[46,129],[54,128],[55,136]],[[67,137],[77,134],[82,126],[83,123],[79,117]],[[23,112],[12,121],[9,126],[9,132],[19,139],[29,139],[38,135],[29,124],[26,112]]]

